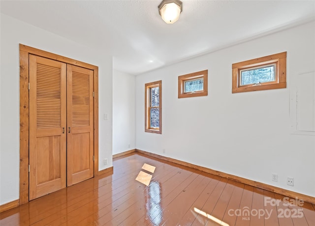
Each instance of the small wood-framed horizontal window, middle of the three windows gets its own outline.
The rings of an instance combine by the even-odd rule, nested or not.
[[[178,98],[207,95],[208,70],[178,76]]]

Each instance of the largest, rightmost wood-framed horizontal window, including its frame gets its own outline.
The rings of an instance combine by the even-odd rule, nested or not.
[[[286,52],[232,64],[232,93],[286,87]]]

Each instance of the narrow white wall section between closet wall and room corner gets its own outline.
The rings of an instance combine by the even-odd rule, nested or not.
[[[113,70],[113,154],[135,149],[135,76]]]

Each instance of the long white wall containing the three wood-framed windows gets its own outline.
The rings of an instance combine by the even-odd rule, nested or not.
[[[291,78],[315,70],[314,40],[313,22],[137,76],[136,148],[315,197],[315,137],[292,135],[289,114]],[[232,63],[284,51],[287,88],[231,93]],[[178,76],[205,69],[208,96],[178,99]],[[144,84],[158,80],[161,135],[144,132]]]

